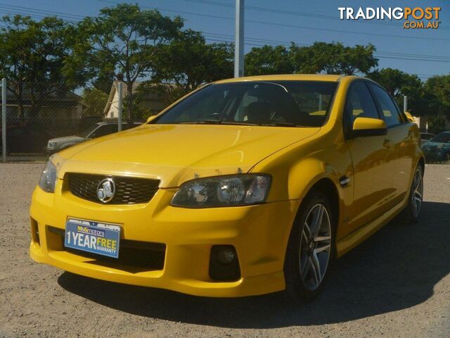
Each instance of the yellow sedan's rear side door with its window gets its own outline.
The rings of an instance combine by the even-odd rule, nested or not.
[[[399,111],[397,104],[378,84],[369,82],[369,88],[375,98],[385,123],[387,125],[386,146],[388,156],[386,161],[392,168],[392,188],[395,189],[394,198],[390,206],[399,203],[409,189],[409,181],[413,170],[413,154],[416,149],[411,123]]]

